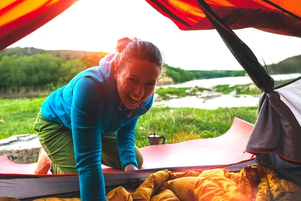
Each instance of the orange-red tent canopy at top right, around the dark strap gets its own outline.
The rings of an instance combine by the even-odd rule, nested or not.
[[[146,2],[162,15],[170,18],[181,30],[214,29],[197,0],[146,0]],[[270,33],[301,37],[301,1],[299,0],[206,0],[205,2],[232,30],[253,27]],[[280,11],[278,7],[291,15]]]

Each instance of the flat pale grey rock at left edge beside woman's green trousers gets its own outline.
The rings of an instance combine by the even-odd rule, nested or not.
[[[14,135],[0,140],[0,156],[7,155],[16,163],[31,163],[38,160],[41,148],[36,134]]]

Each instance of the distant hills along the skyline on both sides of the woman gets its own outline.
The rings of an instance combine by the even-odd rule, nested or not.
[[[64,62],[79,59],[86,68],[98,65],[99,60],[104,57],[107,52],[88,52],[75,50],[43,50],[33,47],[26,48],[7,48],[0,52],[0,61],[5,55],[19,57],[27,57],[38,54],[50,54],[55,58],[60,58]],[[166,64],[167,75],[173,79],[175,83],[185,82],[193,79],[209,79],[218,77],[236,77],[245,76],[245,70],[184,70],[179,67],[172,67]],[[301,72],[301,55],[293,56],[276,64],[267,65],[269,74],[285,74]]]

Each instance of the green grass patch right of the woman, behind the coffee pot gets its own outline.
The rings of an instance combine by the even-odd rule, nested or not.
[[[136,145],[148,145],[147,136],[156,132],[168,144],[199,138],[213,138],[227,132],[238,117],[249,123],[256,121],[258,107],[204,110],[193,108],[153,107],[141,116],[136,129]],[[226,113],[227,112],[227,113]]]

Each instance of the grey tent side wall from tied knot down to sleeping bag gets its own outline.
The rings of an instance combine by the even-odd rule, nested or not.
[[[259,99],[258,116],[246,146],[255,162],[301,185],[301,77]]]

